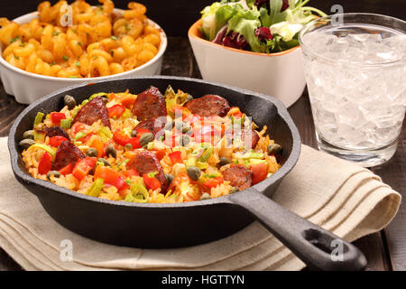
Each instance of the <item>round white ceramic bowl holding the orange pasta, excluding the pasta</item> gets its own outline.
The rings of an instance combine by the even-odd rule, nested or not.
[[[115,14],[122,14],[124,10],[115,9]],[[38,17],[38,12],[25,14],[14,19],[15,23],[29,23],[33,18]],[[152,76],[161,73],[163,53],[166,50],[167,38],[161,27],[148,20],[149,23],[161,32],[161,46],[158,54],[151,60],[137,67],[134,70],[125,71],[106,77],[88,79],[62,79],[56,77],[43,76],[36,73],[20,70],[1,57],[3,47],[0,47],[0,73],[5,87],[5,92],[13,95],[15,100],[23,104],[31,104],[38,98],[50,94],[52,91],[63,89],[79,83],[93,83],[107,79],[132,78],[136,76]]]

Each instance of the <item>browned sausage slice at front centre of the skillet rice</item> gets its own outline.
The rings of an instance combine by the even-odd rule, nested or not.
[[[141,152],[134,158],[133,168],[141,175],[149,172],[158,172],[155,178],[161,182],[161,193],[165,193],[168,189],[168,182],[163,172],[160,161],[152,152]]]

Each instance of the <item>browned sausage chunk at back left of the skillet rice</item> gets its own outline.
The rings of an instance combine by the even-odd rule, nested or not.
[[[99,119],[103,126],[111,128],[108,109],[101,97],[93,98],[88,104],[80,108],[78,114],[73,118],[72,125],[76,122],[81,122],[91,126]]]

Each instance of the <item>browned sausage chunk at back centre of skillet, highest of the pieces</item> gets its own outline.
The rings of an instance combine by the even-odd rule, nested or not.
[[[166,117],[166,102],[160,90],[151,87],[140,93],[134,101],[133,114],[140,121]]]

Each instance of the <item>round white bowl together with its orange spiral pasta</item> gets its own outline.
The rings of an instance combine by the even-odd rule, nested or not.
[[[161,27],[146,8],[110,0],[90,6],[43,2],[13,22],[0,19],[0,71],[7,94],[30,104],[78,83],[160,74],[167,46]]]

